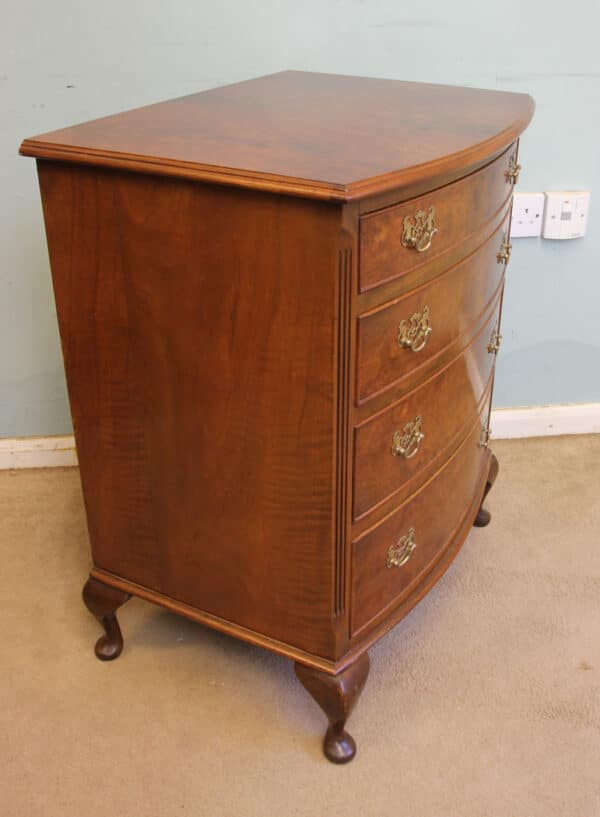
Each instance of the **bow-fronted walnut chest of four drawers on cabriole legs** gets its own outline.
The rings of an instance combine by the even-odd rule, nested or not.
[[[284,72],[27,139],[93,566],[296,662],[329,759],[487,446],[521,94]]]

